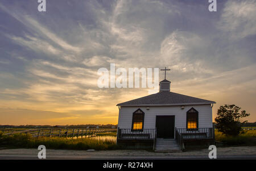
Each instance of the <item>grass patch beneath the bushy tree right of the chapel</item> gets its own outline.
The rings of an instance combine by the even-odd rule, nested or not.
[[[227,136],[216,130],[215,140],[227,146],[256,146],[256,130],[246,130],[238,136]]]

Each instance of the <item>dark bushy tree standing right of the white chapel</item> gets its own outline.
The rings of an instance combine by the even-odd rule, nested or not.
[[[240,112],[241,108],[236,105],[224,105],[218,109],[217,117],[215,118],[216,128],[225,135],[237,136],[243,134],[241,118],[247,117],[250,113],[245,110]]]

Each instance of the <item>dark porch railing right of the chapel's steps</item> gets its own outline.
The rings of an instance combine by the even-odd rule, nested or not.
[[[176,128],[183,139],[213,139],[214,138],[214,129],[212,127],[202,127],[198,129],[185,129],[185,128]]]

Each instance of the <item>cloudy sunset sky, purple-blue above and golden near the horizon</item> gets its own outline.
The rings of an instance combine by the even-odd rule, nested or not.
[[[256,121],[256,1],[0,1],[0,125],[117,124],[148,88],[98,88],[98,69],[168,67],[171,91]],[[159,80],[164,72],[159,72]]]

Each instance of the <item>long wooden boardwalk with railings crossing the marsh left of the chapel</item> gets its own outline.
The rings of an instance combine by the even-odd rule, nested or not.
[[[22,131],[4,132],[4,135],[30,134],[34,137],[90,137],[100,133],[115,132],[117,129],[30,129]]]

